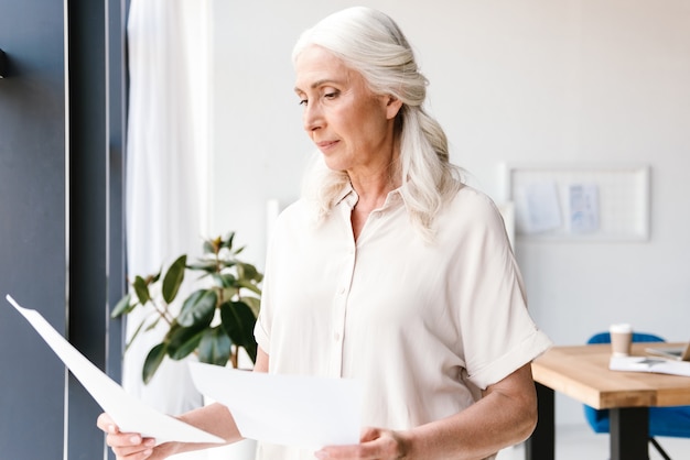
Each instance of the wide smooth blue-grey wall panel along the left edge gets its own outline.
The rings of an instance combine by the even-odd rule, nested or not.
[[[4,300],[65,332],[63,2],[3,1],[0,48],[0,457],[62,459],[64,368]],[[30,419],[29,419],[30,417]]]

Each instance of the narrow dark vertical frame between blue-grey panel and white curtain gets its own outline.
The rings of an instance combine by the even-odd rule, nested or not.
[[[123,0],[67,3],[68,337],[116,379],[121,331],[120,321],[109,321],[109,310],[125,289],[125,6]],[[95,425],[100,408],[74,379],[67,394],[67,458],[103,457],[103,432]]]

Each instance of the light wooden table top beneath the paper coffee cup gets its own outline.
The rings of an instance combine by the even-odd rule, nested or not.
[[[645,348],[684,343],[633,343]],[[532,362],[536,382],[597,409],[690,405],[690,377],[608,370],[611,344],[553,347]]]

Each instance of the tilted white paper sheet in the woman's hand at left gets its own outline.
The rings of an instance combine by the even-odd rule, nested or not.
[[[86,391],[107,412],[123,432],[140,432],[165,441],[225,442],[222,438],[174,417],[161,414],[130,396],[112,379],[94,365],[76,348],[65,340],[43,316],[32,309],[22,308],[11,296],[8,302],[33,326],[57,357],[65,363]]]

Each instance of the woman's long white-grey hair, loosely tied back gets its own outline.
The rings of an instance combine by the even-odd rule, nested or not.
[[[434,217],[461,186],[460,168],[450,163],[443,129],[422,107],[429,81],[419,72],[407,39],[385,13],[355,7],[304,31],[293,48],[293,62],[310,45],[325,48],[360,73],[373,92],[402,101],[396,120],[400,141],[396,174],[411,221],[432,240]],[[345,172],[325,168],[323,161],[316,162],[305,184],[305,195],[315,200],[320,218],[331,211],[349,180]]]

